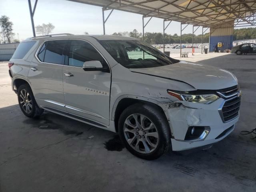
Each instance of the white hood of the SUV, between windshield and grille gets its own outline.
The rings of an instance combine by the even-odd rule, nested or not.
[[[226,70],[186,61],[152,68],[130,68],[130,71],[185,82],[201,90],[237,85],[236,77]]]

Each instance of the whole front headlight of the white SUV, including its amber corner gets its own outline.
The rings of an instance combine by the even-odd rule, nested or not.
[[[200,103],[200,104],[210,104],[219,98],[215,94],[205,94],[205,95],[182,94],[182,93],[177,93],[171,90],[167,90],[167,92],[168,94],[178,98],[179,100],[193,102],[193,103]]]

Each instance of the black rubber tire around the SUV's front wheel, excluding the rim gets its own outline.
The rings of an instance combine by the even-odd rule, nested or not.
[[[152,123],[155,125],[158,132],[158,144],[153,152],[143,154],[137,152],[128,144],[124,135],[124,122],[126,118],[132,114],[142,114],[149,118],[150,121],[152,121]],[[126,108],[120,115],[118,121],[118,133],[127,150],[133,155],[142,159],[155,160],[162,156],[164,153],[168,152],[171,147],[170,126],[168,125],[164,114],[156,106],[148,104],[133,104]]]

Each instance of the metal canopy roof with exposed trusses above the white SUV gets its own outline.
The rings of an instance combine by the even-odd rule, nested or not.
[[[196,26],[256,25],[256,0],[70,0]],[[235,20],[235,23],[234,23]]]

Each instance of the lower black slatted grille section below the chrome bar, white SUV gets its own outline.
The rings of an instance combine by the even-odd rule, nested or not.
[[[239,115],[240,103],[241,97],[226,100],[221,110],[224,122],[228,122]]]

